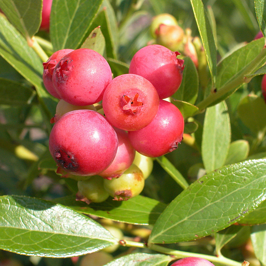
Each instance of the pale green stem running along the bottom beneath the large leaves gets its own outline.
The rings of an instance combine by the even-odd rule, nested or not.
[[[168,249],[166,247],[159,246],[156,244],[149,244],[147,246],[144,243],[134,242],[134,241],[129,241],[129,240],[124,241],[123,246],[134,246],[137,248],[144,248],[144,249],[149,248],[149,249],[152,249],[152,250],[160,252],[160,253],[175,256],[176,259],[181,259],[181,258],[186,258],[186,257],[198,257],[198,258],[202,258],[202,259],[207,259],[211,262],[217,262],[217,263],[225,264],[228,266],[241,266],[240,262],[236,262],[232,259],[228,259],[228,258],[224,257],[223,255],[219,255],[218,257],[216,257],[216,256],[205,255],[205,254],[185,252],[185,251],[179,251],[179,250],[174,250],[174,249]]]

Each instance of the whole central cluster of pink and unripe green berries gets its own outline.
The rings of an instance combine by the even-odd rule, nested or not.
[[[146,46],[134,55],[129,74],[113,80],[106,59],[91,49],[59,50],[43,63],[44,85],[60,99],[49,150],[58,172],[79,180],[77,199],[140,194],[144,177],[133,164],[135,151],[158,157],[177,148],[184,119],[163,99],[181,84],[184,61],[178,54]]]

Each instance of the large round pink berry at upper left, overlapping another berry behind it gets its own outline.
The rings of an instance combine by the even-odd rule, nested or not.
[[[73,105],[91,105],[102,100],[112,72],[103,56],[84,48],[64,56],[56,65],[52,80],[61,99]]]

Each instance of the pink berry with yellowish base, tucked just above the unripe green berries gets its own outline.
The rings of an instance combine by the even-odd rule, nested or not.
[[[118,137],[116,157],[106,170],[99,173],[99,176],[106,179],[121,176],[121,174],[132,165],[135,158],[135,150],[129,141],[127,132],[118,128],[114,128],[114,130]]]

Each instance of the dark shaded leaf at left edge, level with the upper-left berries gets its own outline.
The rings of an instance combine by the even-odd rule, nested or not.
[[[0,78],[0,104],[30,104],[36,92],[12,80]]]

